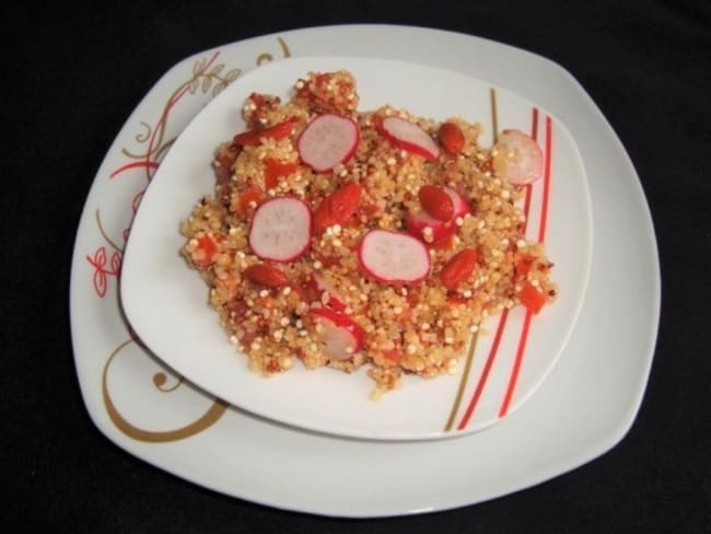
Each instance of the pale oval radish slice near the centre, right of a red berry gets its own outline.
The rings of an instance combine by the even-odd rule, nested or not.
[[[430,254],[424,244],[389,230],[368,232],[358,247],[358,259],[368,275],[387,283],[417,283],[430,272]]]

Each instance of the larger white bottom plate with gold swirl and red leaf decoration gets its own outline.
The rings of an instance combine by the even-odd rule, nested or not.
[[[415,61],[515,88],[564,123],[580,149],[594,221],[586,298],[558,363],[535,395],[486,431],[396,442],[281,426],[228,407],[173,374],[137,344],[124,320],[117,274],[126,231],[172,141],[215,88],[266,61],[325,49]],[[159,80],[118,132],[89,193],[70,301],[82,396],[94,423],[118,446],[230,496],[326,515],[383,516],[492,499],[563,474],[617,444],[646,385],[660,270],[634,169],[595,103],[562,68],[464,34],[345,25],[225,45],[180,61]]]

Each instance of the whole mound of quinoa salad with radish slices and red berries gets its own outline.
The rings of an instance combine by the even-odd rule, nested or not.
[[[377,398],[404,374],[456,373],[488,316],[556,299],[553,264],[524,235],[543,169],[526,134],[485,148],[461,117],[359,111],[346,70],[240,105],[246,127],[215,147],[180,252],[253,371],[365,365]]]

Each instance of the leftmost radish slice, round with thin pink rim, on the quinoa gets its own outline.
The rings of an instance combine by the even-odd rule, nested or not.
[[[311,242],[311,210],[293,197],[271,198],[255,211],[249,227],[249,246],[263,259],[291,262],[303,255]]]

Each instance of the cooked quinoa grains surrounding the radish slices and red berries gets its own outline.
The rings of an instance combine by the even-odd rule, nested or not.
[[[404,373],[423,378],[456,373],[469,337],[486,334],[480,322],[518,305],[518,293],[527,286],[548,302],[556,298],[558,288],[548,276],[552,264],[544,247],[522,233],[523,189],[492,175],[496,150],[479,146],[478,124],[447,118],[462,129],[464,148],[457,155],[442,153],[428,160],[394,146],[378,124],[398,116],[419,125],[435,141],[439,124],[391,105],[359,112],[350,72],[311,72],[295,81],[293,91],[283,104],[270,95],[247,98],[242,113],[250,130],[294,120],[293,131],[283,139],[261,137],[256,144],[225,141],[214,154],[206,154],[214,162],[215,194],[199,199],[179,227],[186,239],[182,254],[210,288],[210,305],[229,341],[246,352],[249,369],[265,375],[283,372],[293,367],[294,357],[310,369],[329,365],[351,372],[368,364],[375,382],[371,398],[380,398],[400,384]],[[301,162],[296,139],[323,113],[352,118],[360,141],[350,160],[317,173]],[[273,160],[296,162],[298,169],[267,187],[266,169]],[[295,196],[313,212],[349,182],[362,189],[357,211],[314,235],[300,259],[280,264],[288,286],[265,288],[243,277],[247,267],[263,262],[249,247],[248,235],[264,199]],[[417,193],[423,185],[448,186],[469,207],[468,213],[446,222],[450,239],[444,246],[432,225],[408,228],[407,216],[422,210]],[[427,279],[407,288],[370,279],[357,249],[374,228],[412,231],[422,240],[432,262]],[[448,290],[440,271],[467,247],[477,251],[476,270]],[[524,257],[527,268],[521,264]],[[315,271],[328,280],[327,289],[318,289]],[[345,346],[348,358],[336,359],[325,349],[327,328],[313,311],[319,307],[333,307],[362,330],[362,346]]]

